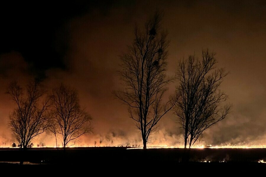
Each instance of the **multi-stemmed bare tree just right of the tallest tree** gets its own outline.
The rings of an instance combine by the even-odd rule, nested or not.
[[[199,140],[204,130],[223,120],[231,105],[222,105],[228,96],[220,90],[220,84],[227,72],[217,69],[215,53],[202,51],[202,60],[190,55],[179,63],[177,79],[179,96],[174,107],[181,127],[184,129],[185,148]]]

